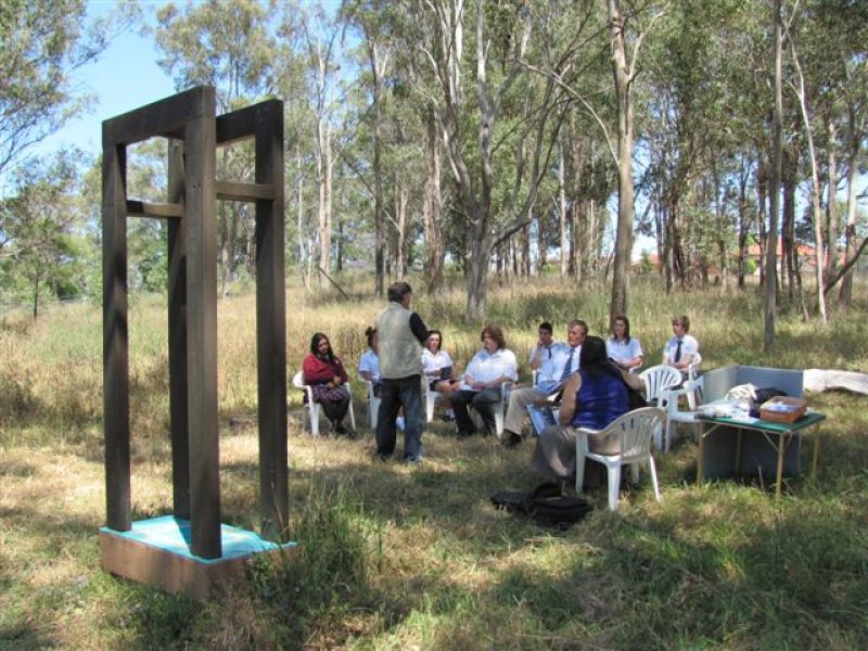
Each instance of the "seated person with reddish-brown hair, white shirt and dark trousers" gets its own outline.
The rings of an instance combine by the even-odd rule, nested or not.
[[[501,397],[500,384],[512,383],[519,379],[515,355],[507,348],[500,327],[486,326],[482,330],[481,339],[482,350],[470,360],[460,388],[449,396],[459,438],[476,433],[476,427],[468,413],[468,406],[471,405],[485,422],[486,433],[496,432],[494,409]]]

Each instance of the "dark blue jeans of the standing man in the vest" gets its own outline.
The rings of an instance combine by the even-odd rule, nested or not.
[[[376,454],[391,457],[395,451],[395,418],[404,407],[404,460],[422,459],[421,375],[381,378],[380,411],[376,414]]]

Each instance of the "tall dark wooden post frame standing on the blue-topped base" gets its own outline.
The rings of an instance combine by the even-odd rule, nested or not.
[[[128,216],[168,220],[169,421],[174,510],[190,521],[190,551],[221,556],[217,419],[218,199],[256,203],[256,358],[263,533],[285,539],[286,334],[283,103],[216,116],[202,86],[103,122],[103,407],[107,526],[131,527]],[[127,146],[169,139],[168,203],[129,201]],[[217,181],[216,148],[253,138],[255,183]]]

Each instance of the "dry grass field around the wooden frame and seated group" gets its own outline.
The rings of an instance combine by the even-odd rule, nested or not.
[[[411,279],[412,281],[412,279]],[[288,295],[290,371],[316,330],[354,367],[382,305],[370,280]],[[413,284],[422,285],[421,281]],[[799,314],[778,320],[763,353],[754,290],[666,296],[634,282],[633,332],[656,362],[669,318],[686,312],[704,368],[731,362],[868,370],[866,292],[827,329]],[[460,291],[419,292],[416,308],[444,331],[463,366],[480,347]],[[224,521],[258,523],[255,302],[219,307]],[[584,318],[607,320],[608,292],[556,281],[493,286],[490,321],[521,362],[536,324],[563,339]],[[135,297],[130,315],[133,518],[170,512],[165,303]],[[868,398],[809,396],[829,419],[817,477],[788,482],[776,505],[751,482],[698,486],[694,442],[659,457],[663,502],[647,483],[599,506],[566,532],[489,506],[529,488],[532,445],[456,441],[435,422],[418,468],[373,464],[372,433],[311,438],[290,393],[295,562],[256,563],[248,579],[204,604],[104,574],[101,315],[56,307],[37,323],[0,320],[0,649],[865,649],[868,648]],[[522,369],[529,374],[526,365]],[[291,373],[290,373],[291,374]],[[355,385],[357,420],[363,394]],[[242,423],[242,426],[230,426]]]

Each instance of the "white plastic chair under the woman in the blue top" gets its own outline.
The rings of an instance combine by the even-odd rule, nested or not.
[[[639,463],[648,463],[654,498],[660,501],[660,486],[654,458],[651,456],[651,439],[663,427],[666,414],[659,407],[643,407],[628,411],[612,421],[604,430],[576,429],[576,493],[582,492],[585,478],[585,459],[593,459],[605,465],[609,471],[609,508],[617,510],[618,488],[621,487],[621,467],[629,464],[633,481],[639,481]],[[601,455],[588,449],[588,435],[605,436],[615,434],[620,452]]]

